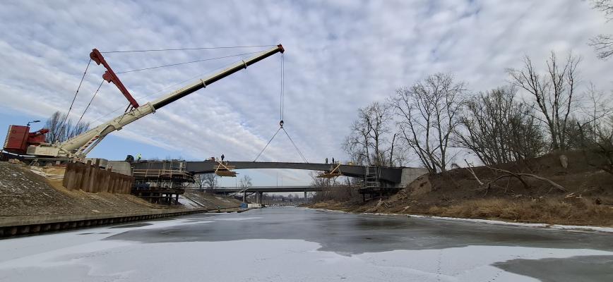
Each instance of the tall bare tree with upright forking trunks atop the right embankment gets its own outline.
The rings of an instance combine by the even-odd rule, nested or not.
[[[537,118],[547,125],[552,149],[567,149],[566,127],[571,112],[576,109],[574,97],[577,83],[577,66],[581,58],[569,54],[560,63],[552,51],[547,59],[547,73],[540,74],[532,66],[530,57],[525,56],[523,68],[507,70],[511,83],[526,90],[535,99],[540,116]]]

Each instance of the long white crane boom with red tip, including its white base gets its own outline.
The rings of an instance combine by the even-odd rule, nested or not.
[[[222,71],[218,71],[213,75],[198,80],[198,82],[194,82],[191,85],[187,85],[186,87],[171,92],[160,99],[156,99],[153,102],[148,102],[147,104],[138,106],[138,108],[132,109],[125,114],[121,114],[120,116],[102,123],[101,125],[98,125],[97,127],[90,129],[81,135],[72,137],[65,142],[56,143],[54,145],[30,146],[28,147],[28,154],[83,159],[85,155],[87,155],[109,133],[116,130],[121,130],[121,128],[123,128],[125,125],[128,125],[129,123],[132,123],[143,116],[155,113],[155,110],[162,108],[162,106],[166,106],[167,104],[177,101],[178,99],[196,92],[201,88],[205,88],[211,83],[221,80],[222,78],[232,75],[233,73],[237,73],[238,71],[247,68],[247,66],[251,66],[252,64],[266,59],[269,56],[277,53],[283,53],[283,51],[285,51],[285,49],[283,49],[282,45],[279,44],[278,46],[267,51],[263,51],[262,53],[249,59],[234,63],[232,66],[225,68]]]

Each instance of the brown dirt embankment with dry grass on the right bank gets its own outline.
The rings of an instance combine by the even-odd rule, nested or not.
[[[320,202],[314,208],[346,212],[426,214],[472,219],[613,226],[613,176],[589,166],[578,152],[566,154],[568,166],[561,166],[559,154],[503,164],[516,173],[530,173],[558,183],[522,177],[525,184],[506,173],[484,166],[475,167],[480,185],[467,168],[418,178],[388,199],[352,199]],[[504,176],[500,178],[501,176]]]

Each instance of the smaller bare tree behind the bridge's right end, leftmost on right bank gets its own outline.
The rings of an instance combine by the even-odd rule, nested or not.
[[[393,165],[393,144],[388,146],[391,113],[386,104],[373,102],[358,110],[357,120],[352,124],[350,135],[345,137],[343,149],[357,164]],[[398,152],[398,151],[397,151]],[[390,157],[386,157],[387,155]]]

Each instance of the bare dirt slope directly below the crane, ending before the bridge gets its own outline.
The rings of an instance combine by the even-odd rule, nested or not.
[[[61,186],[61,168],[34,168],[36,173],[30,169],[0,161],[0,216],[102,214],[169,208],[133,195],[66,190]]]

